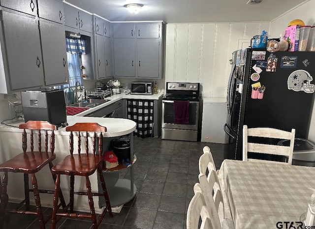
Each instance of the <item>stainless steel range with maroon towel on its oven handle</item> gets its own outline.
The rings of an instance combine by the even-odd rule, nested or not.
[[[199,83],[166,83],[162,98],[162,139],[197,141]]]

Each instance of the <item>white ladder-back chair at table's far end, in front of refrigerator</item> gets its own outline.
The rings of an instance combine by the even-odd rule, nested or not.
[[[290,140],[289,146],[277,145],[277,144],[262,144],[257,142],[249,142],[249,137],[261,137],[261,138],[276,138]],[[248,128],[247,125],[243,126],[243,161],[257,161],[268,163],[287,163],[292,164],[293,148],[294,148],[295,129],[291,132],[278,130],[274,128]],[[278,140],[277,140],[278,141]],[[285,162],[261,160],[248,158],[248,153],[253,154],[270,154],[280,155],[286,157]]]

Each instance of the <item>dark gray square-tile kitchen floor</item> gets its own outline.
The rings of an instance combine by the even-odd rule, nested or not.
[[[198,182],[198,160],[209,146],[217,169],[224,144],[134,137],[134,182],[137,194],[113,218],[105,215],[99,229],[186,229],[186,213]],[[128,178],[129,170],[120,173]],[[49,215],[51,208],[44,208]],[[3,229],[38,229],[36,216],[13,214]],[[90,229],[89,220],[62,219],[58,229]],[[50,229],[50,223],[46,225]]]

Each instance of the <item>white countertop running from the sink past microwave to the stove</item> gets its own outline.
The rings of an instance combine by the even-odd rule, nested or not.
[[[126,98],[126,99],[152,99],[152,100],[158,100],[159,98],[163,97],[163,93],[158,93],[158,94],[154,94],[154,95],[126,95],[124,93],[122,94],[116,94],[110,97],[106,97],[105,99],[110,99],[110,101],[105,102],[103,104],[99,104],[95,107],[89,108],[88,110],[82,111],[78,114],[76,114],[75,116],[85,116],[87,114],[90,114],[96,110],[99,110],[105,106],[108,106],[112,103],[117,102],[120,99]]]

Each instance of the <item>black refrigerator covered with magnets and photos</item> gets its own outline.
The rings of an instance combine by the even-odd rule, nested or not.
[[[243,125],[308,135],[314,103],[315,52],[233,52],[227,87],[226,159],[242,160]]]

